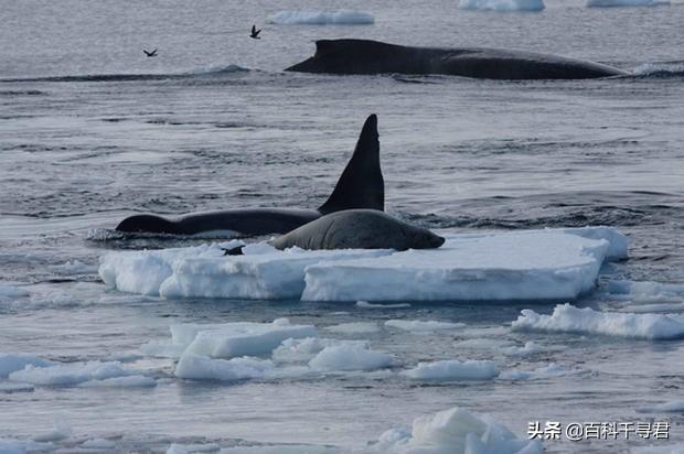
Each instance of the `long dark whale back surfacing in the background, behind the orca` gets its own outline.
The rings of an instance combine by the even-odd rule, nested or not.
[[[585,79],[629,73],[599,63],[523,51],[409,47],[370,40],[320,40],[286,71],[329,74],[443,74],[489,79]]]

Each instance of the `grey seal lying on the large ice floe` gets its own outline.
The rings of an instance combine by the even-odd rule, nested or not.
[[[276,249],[432,249],[445,239],[374,209],[331,213],[271,240]]]

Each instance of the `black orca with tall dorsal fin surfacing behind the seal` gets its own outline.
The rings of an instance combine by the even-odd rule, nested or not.
[[[207,231],[232,231],[243,236],[285,234],[329,213],[354,208],[382,212],[384,207],[385,185],[380,166],[377,117],[371,115],[335,188],[318,209],[245,208],[199,213],[178,219],[135,215],[124,219],[116,230],[164,235]]]

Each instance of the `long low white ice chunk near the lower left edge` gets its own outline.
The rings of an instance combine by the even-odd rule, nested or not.
[[[78,385],[90,380],[126,377],[135,372],[118,361],[54,364],[47,367],[26,366],[23,370],[11,372],[12,381],[32,385]]]

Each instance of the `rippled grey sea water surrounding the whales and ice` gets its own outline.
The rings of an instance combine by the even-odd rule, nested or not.
[[[359,9],[373,25],[264,25],[280,10]],[[154,388],[0,390],[0,437],[67,424],[120,452],[172,442],[307,443],[361,448],[385,430],[453,406],[525,436],[528,421],[672,423],[638,407],[682,399],[684,343],[522,334],[520,311],[556,303],[420,303],[364,310],[297,301],[177,300],[124,294],[97,275],[109,250],[205,242],[101,240],[125,216],[247,206],[316,207],[332,190],[368,114],[380,119],[387,210],[450,231],[608,225],[631,239],[611,280],[684,282],[684,4],[538,13],[463,11],[458,1],[0,0],[0,353],[60,361],[124,358]],[[263,39],[248,37],[253,23]],[[493,82],[284,73],[324,37],[557,53],[632,77]],[[142,48],[159,48],[147,58]],[[680,307],[682,293],[667,303]],[[599,291],[579,306],[629,310]],[[677,312],[676,310],[670,310]],[[678,313],[683,312],[681,309]],[[124,355],[169,337],[171,323],[319,327],[388,318],[460,322],[448,335],[381,329],[364,338],[397,365],[491,359],[581,369],[523,382],[425,386],[373,374],[197,382],[173,361]],[[457,346],[472,338],[548,347],[532,358]],[[400,366],[399,366],[400,367]],[[73,440],[73,439],[72,439]],[[629,452],[649,443],[546,442],[547,452]],[[68,447],[68,444],[67,446]]]

